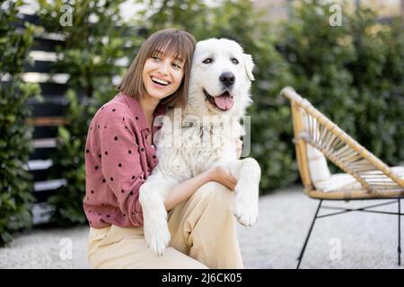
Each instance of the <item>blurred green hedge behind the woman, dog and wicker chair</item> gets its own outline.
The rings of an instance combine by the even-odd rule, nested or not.
[[[238,41],[256,64],[252,84],[251,153],[262,170],[261,193],[299,180],[292,143],[289,103],[279,96],[293,86],[359,143],[390,165],[404,161],[404,43],[401,19],[378,22],[372,11],[349,12],[342,25],[329,25],[329,4],[293,5],[287,21],[268,23],[250,1],[137,1],[145,9],[124,22],[123,1],[75,1],[73,26],[58,24],[63,1],[40,1],[44,30],[62,34],[66,47],[58,65],[70,75],[67,122],[59,127],[53,172],[67,185],[51,196],[58,224],[85,222],[83,151],[94,112],[115,94],[117,76],[155,30],[188,30],[198,40]],[[119,59],[126,58],[122,64]],[[115,78],[115,79],[114,79]]]

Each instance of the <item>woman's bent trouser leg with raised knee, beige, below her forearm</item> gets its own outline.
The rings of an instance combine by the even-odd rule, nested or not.
[[[169,214],[171,246],[209,268],[243,268],[234,193],[217,182],[198,188]]]

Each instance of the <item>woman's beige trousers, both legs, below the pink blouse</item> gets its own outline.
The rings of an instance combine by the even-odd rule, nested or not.
[[[208,182],[169,213],[170,247],[162,257],[147,248],[143,227],[90,229],[94,268],[243,268],[233,216],[234,194]]]

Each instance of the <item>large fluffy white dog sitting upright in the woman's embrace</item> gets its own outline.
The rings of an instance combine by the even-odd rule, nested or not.
[[[238,160],[235,152],[236,139],[244,135],[240,120],[251,103],[253,66],[251,56],[233,40],[198,42],[187,106],[164,117],[155,140],[159,163],[139,190],[145,240],[156,255],[162,255],[171,239],[163,204],[171,187],[214,167],[237,179],[233,213],[238,221],[245,226],[256,222],[259,164],[251,158]]]

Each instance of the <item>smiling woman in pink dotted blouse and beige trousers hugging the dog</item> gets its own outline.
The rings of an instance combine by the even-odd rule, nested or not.
[[[95,268],[242,268],[233,219],[236,180],[213,169],[173,187],[164,204],[171,247],[147,248],[139,187],[158,161],[154,117],[186,104],[196,41],[188,32],[159,30],[146,39],[118,86],[92,118],[85,150],[90,223],[88,260]]]

